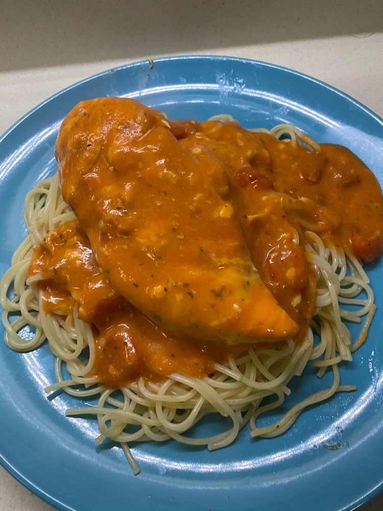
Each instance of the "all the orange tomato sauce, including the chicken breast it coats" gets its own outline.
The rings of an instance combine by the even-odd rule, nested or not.
[[[302,339],[316,299],[305,229],[363,261],[381,253],[379,185],[340,146],[101,98],[69,113],[56,154],[77,222],[47,235],[30,274],[47,312],[77,304],[92,323],[108,385],[201,377],[248,345]]]

